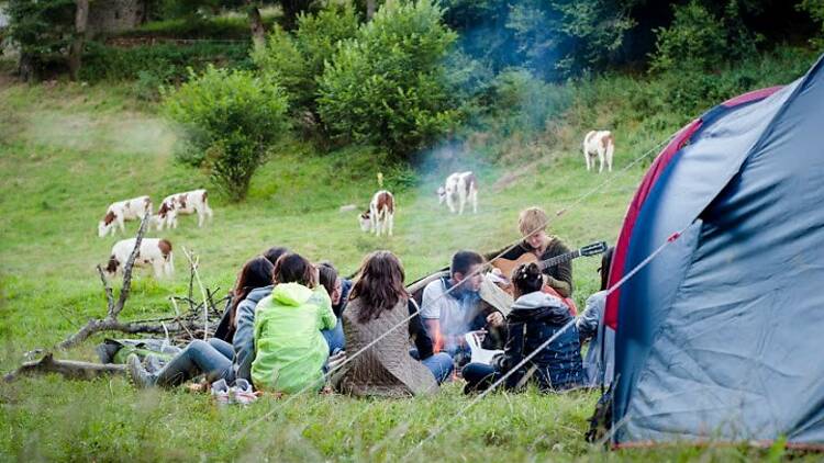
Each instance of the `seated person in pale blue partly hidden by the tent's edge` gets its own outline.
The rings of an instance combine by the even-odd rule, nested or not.
[[[603,323],[613,250],[610,248],[604,252],[601,268],[598,269],[601,272],[601,291],[589,296],[587,308],[576,319],[581,343],[591,339],[583,359],[583,375],[590,387],[609,387],[615,371],[615,330]]]

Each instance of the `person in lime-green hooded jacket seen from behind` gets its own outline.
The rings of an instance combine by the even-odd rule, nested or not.
[[[318,270],[303,257],[287,252],[275,263],[275,289],[255,310],[257,389],[298,393],[323,387],[329,346],[322,329],[337,323]]]

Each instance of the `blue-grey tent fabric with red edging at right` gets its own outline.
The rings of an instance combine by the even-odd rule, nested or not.
[[[644,178],[611,282],[684,233],[608,300],[614,444],[824,445],[822,68],[709,111]]]

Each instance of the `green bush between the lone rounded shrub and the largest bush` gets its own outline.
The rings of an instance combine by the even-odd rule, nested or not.
[[[333,4],[316,14],[301,14],[293,34],[275,27],[267,46],[253,58],[264,75],[287,90],[292,110],[314,113],[316,80],[324,63],[332,60],[339,42],[354,37],[357,29],[355,9]]]

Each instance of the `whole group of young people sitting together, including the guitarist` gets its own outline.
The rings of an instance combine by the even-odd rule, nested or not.
[[[503,257],[532,252],[543,260],[568,252],[547,235],[546,223],[542,210],[523,211],[524,240]],[[609,259],[608,252],[602,290]],[[565,302],[572,294],[571,264],[542,272],[525,263],[511,275],[513,294],[505,306],[510,303],[500,301],[510,296],[482,273],[486,263],[477,252],[458,251],[448,274],[432,279],[422,294],[410,294],[403,266],[390,251],[369,253],[350,281],[329,262],[313,264],[271,248],[243,266],[214,337],[192,341],[157,369],[147,370],[144,363],[151,362],[130,355],[127,370],[141,387],[172,387],[204,375],[209,383],[245,381],[258,391],[287,394],[329,384],[357,396],[432,394],[458,375],[472,393],[515,368],[503,383],[508,388],[533,382],[542,391],[563,391],[611,381],[611,361],[603,361],[612,349],[603,326],[605,291],[592,295],[576,317]],[[485,301],[485,291],[497,302]],[[472,363],[470,331],[485,332],[487,347],[503,353]],[[583,361],[581,345],[589,339]]]

